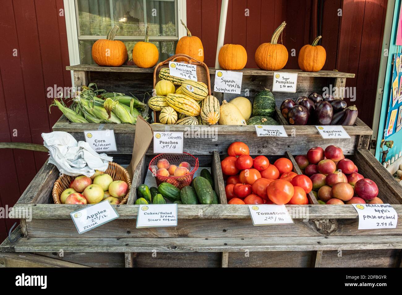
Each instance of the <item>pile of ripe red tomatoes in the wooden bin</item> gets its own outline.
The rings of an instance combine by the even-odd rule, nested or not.
[[[233,142],[221,166],[228,204],[308,204],[312,181],[293,172],[287,158],[273,164],[265,156],[253,159],[244,142]]]

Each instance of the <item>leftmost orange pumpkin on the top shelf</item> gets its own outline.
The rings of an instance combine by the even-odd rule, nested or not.
[[[124,43],[114,40],[118,26],[111,28],[106,39],[96,40],[92,45],[92,59],[98,65],[119,67],[127,60],[127,48]]]

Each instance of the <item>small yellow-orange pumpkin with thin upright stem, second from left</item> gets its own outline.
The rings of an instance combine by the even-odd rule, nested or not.
[[[155,44],[148,42],[148,30],[149,26],[145,30],[144,42],[136,43],[133,48],[133,62],[141,68],[154,67],[159,60],[158,48]]]

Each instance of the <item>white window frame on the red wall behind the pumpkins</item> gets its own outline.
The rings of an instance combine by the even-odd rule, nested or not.
[[[68,42],[68,55],[70,59],[70,65],[79,65],[80,61],[80,49],[78,44],[78,27],[77,27],[77,11],[75,0],[63,0],[64,2],[64,15],[66,18],[66,31],[67,31],[67,42]],[[176,18],[176,26],[177,26],[177,39],[185,36],[187,34],[184,26],[181,25],[180,19],[187,25],[187,0],[177,0],[177,18]],[[96,36],[98,39],[105,39],[106,36]],[[96,39],[94,36],[88,37],[80,37],[80,40],[85,39]],[[142,40],[143,37],[129,37],[129,36],[121,36],[120,40]],[[152,40],[164,40],[164,39],[172,39],[172,37],[166,36],[155,36],[152,37]],[[71,81],[74,87],[74,77],[71,72]]]

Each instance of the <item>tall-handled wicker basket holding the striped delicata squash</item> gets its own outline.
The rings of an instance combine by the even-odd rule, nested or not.
[[[197,66],[197,81],[203,82],[207,84],[208,87],[208,95],[211,95],[211,78],[209,77],[209,69],[205,63],[202,61],[194,60],[194,58],[190,57],[189,55],[186,54],[176,54],[173,55],[172,57],[169,57],[166,59],[166,61],[161,61],[155,66],[154,70],[154,89],[156,83],[160,81],[159,79],[159,72],[160,69],[164,67],[169,67],[169,61],[175,61],[176,59],[185,59],[185,61],[180,61],[180,63],[189,63],[192,65]],[[154,111],[154,122],[158,123],[159,122],[159,113]]]

